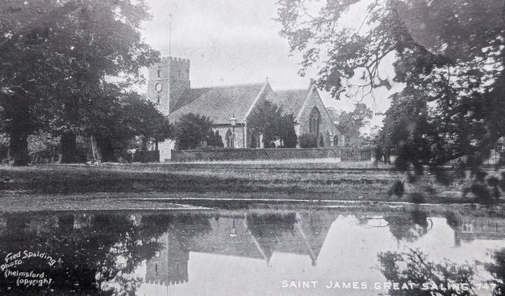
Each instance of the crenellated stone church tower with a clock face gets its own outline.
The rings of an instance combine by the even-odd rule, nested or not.
[[[156,104],[161,113],[171,113],[189,87],[189,59],[163,57],[161,62],[149,67],[147,99]]]

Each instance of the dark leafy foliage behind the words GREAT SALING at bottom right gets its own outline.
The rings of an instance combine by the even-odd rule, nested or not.
[[[401,283],[413,283],[412,288],[390,289],[389,295],[475,295],[470,290],[471,281],[475,274],[475,265],[455,265],[448,260],[444,260],[443,263],[431,262],[424,253],[412,249],[403,253],[381,252],[378,257],[382,265],[381,272],[387,281],[400,283],[400,285]],[[429,289],[423,289],[424,283],[430,283]],[[468,289],[462,289],[462,284],[468,284]]]

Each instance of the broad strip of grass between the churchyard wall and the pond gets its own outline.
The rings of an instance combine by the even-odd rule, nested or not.
[[[332,162],[233,162],[0,167],[0,195],[152,192],[159,196],[245,196],[272,199],[408,201],[388,194],[403,174],[391,167]],[[2,179],[0,178],[0,180]],[[445,188],[444,190],[451,190]],[[453,190],[457,192],[457,190]],[[426,196],[426,202],[472,202],[460,195]]]

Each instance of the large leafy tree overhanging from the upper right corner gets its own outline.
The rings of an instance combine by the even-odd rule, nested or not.
[[[303,54],[301,73],[321,65],[318,85],[335,97],[405,85],[392,97],[382,132],[384,150],[393,147],[407,157],[400,168],[462,155],[478,166],[505,136],[503,1],[278,4],[281,35]],[[365,13],[349,15],[358,6]],[[391,56],[396,76],[384,77],[381,66]]]

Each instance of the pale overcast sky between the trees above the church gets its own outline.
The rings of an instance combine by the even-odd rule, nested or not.
[[[298,53],[290,57],[288,41],[279,36],[276,0],[148,0],[152,20],[145,22],[147,43],[168,56],[191,60],[191,87],[259,83],[274,90],[308,87],[316,69],[298,76]],[[354,15],[354,19],[359,15]],[[172,22],[170,47],[170,20]],[[392,78],[392,77],[391,77]],[[357,98],[340,101],[320,92],[326,106],[351,110]],[[383,90],[364,102],[374,112],[389,106]],[[361,98],[359,98],[361,99]],[[379,124],[375,118],[373,124]]]

